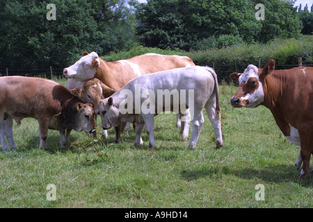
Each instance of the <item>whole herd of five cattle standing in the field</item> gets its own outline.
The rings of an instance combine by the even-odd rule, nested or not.
[[[197,144],[204,123],[203,108],[214,128],[216,147],[223,146],[216,73],[209,67],[195,66],[186,56],[148,53],[128,60],[106,62],[95,52],[83,52],[82,58],[65,68],[63,74],[67,77],[66,87],[44,78],[0,78],[0,142],[3,151],[17,149],[13,139],[13,119],[17,124],[25,117],[37,119],[40,148],[45,148],[48,129],[58,130],[60,145],[64,148],[72,129],[84,130],[97,137],[97,114],[102,120],[103,137],[108,137],[106,130],[114,127],[115,142],[120,142],[122,128],[133,123],[135,145],[143,143],[141,133],[145,126],[149,146],[154,148],[157,110],[173,111],[174,102],[179,105],[176,125],[181,127],[182,140],[188,139],[190,121],[193,123],[189,148],[195,148]],[[300,179],[312,174],[309,167],[313,153],[313,67],[275,70],[275,61],[270,60],[263,69],[249,65],[243,73],[232,73],[230,78],[239,83],[238,91],[230,99],[231,105],[234,108],[264,105],[271,110],[282,133],[290,142],[300,146],[295,164],[300,168],[303,163]],[[134,96],[125,96],[125,90]],[[159,98],[164,95],[158,97],[159,90],[178,92],[177,98],[173,99],[171,95],[170,105],[166,105],[163,101],[166,98]],[[139,104],[137,94],[145,94],[139,97]],[[125,106],[125,101],[127,110],[132,112],[121,112],[120,106]],[[143,104],[156,112],[138,110]]]

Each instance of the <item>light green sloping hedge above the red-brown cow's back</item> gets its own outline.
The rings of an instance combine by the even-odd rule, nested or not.
[[[263,67],[268,60],[274,59],[280,69],[290,69],[290,65],[298,66],[298,57],[303,58],[303,65],[313,64],[313,35],[298,39],[275,39],[268,44],[239,44],[223,49],[207,49],[184,53],[196,65],[207,65],[216,69],[220,78],[228,78],[234,71],[244,71],[249,64]],[[236,62],[236,64],[235,64]],[[236,65],[236,67],[235,67]]]

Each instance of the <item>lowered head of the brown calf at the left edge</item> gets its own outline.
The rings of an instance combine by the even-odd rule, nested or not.
[[[91,103],[77,103],[77,116],[74,117],[75,126],[74,130],[80,132],[84,130],[91,133],[95,129],[96,119],[93,104]]]

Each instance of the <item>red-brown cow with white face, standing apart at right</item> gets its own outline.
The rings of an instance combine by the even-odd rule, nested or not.
[[[230,99],[232,106],[264,105],[271,110],[284,136],[300,146],[296,167],[303,162],[303,168],[299,178],[309,176],[313,151],[313,67],[275,70],[275,61],[269,60],[263,69],[248,65],[243,74],[232,73],[230,78],[239,83]]]

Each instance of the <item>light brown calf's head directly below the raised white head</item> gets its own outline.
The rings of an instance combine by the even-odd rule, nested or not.
[[[74,88],[71,93],[78,96],[79,99],[85,103],[93,103],[95,113],[99,112],[100,100],[104,99],[106,94],[113,94],[114,90],[104,85],[101,80],[93,78],[88,80],[84,85],[83,89]]]

